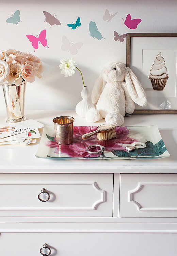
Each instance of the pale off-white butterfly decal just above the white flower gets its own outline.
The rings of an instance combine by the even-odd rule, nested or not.
[[[78,53],[78,50],[82,47],[83,43],[73,43],[73,41],[69,42],[69,40],[67,39],[67,37],[65,37],[65,35],[63,35],[62,37],[62,45],[61,45],[61,49],[62,51],[66,52],[66,51],[70,51],[70,53],[72,55],[76,55]]]

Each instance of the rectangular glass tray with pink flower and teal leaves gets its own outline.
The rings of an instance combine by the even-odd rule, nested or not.
[[[59,145],[55,140],[53,126],[44,126],[41,142],[36,157],[52,159],[69,158],[116,158],[116,159],[137,159],[137,158],[162,158],[168,157],[164,142],[161,138],[157,125],[151,126],[117,126],[116,138],[107,141],[98,141],[97,135],[88,139],[82,139],[84,133],[94,131],[97,126],[74,126],[74,141],[69,145]],[[126,146],[133,142],[143,142],[145,148],[135,149],[132,152],[126,150]],[[104,153],[90,155],[86,148],[93,144],[100,144],[105,147]]]

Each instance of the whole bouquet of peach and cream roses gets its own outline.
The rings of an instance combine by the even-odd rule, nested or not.
[[[42,77],[43,69],[41,60],[29,52],[0,50],[0,85],[32,83],[36,76]]]

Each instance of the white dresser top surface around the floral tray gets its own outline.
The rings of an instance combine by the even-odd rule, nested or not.
[[[97,123],[87,123],[74,110],[61,111],[26,111],[28,119],[34,119],[44,125],[53,125],[56,116],[69,115],[75,118],[75,126],[98,126],[104,124],[104,119]],[[5,124],[5,113],[0,112],[0,123]],[[177,115],[176,114],[134,114],[125,117],[123,126],[158,125],[161,137],[170,153],[170,157],[161,159],[42,159],[35,154],[37,143],[27,146],[1,145],[0,172],[64,172],[64,173],[177,173]],[[42,134],[42,129],[41,129]]]

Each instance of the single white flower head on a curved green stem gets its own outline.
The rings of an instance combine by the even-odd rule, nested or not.
[[[63,58],[60,60],[60,63],[59,67],[62,70],[61,73],[64,74],[65,77],[75,74],[76,60],[73,60],[73,58]]]

